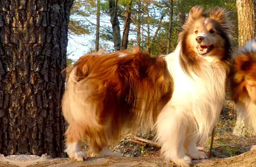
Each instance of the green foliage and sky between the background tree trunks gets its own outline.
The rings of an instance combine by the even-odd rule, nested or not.
[[[121,36],[124,28],[124,20],[126,18],[126,9],[131,0],[118,0],[117,13],[120,22]],[[173,1],[173,21],[172,21],[172,35],[171,35],[171,50],[177,45],[178,33],[180,29],[179,14],[183,12],[187,17],[189,9],[195,5],[201,5],[205,9],[210,7],[225,7],[230,11],[230,18],[234,25],[234,35],[232,37],[233,44],[237,44],[238,28],[237,28],[237,13],[236,0],[174,0]],[[69,33],[72,35],[90,35],[94,37],[96,29],[96,1],[95,0],[76,0],[71,10]],[[139,11],[140,7],[140,11]],[[167,37],[169,26],[169,0],[132,0],[131,9],[131,24],[129,31],[128,48],[132,49],[133,45],[137,45],[140,40],[141,50],[146,50],[151,43],[152,47],[149,52],[152,56],[165,54],[167,49]],[[113,51],[110,44],[113,42],[112,27],[109,17],[108,0],[101,0],[100,2],[100,47],[109,46],[108,51]],[[167,12],[165,11],[167,10]],[[163,20],[160,23],[160,17],[165,11]],[[160,25],[159,25],[160,24]],[[140,39],[137,36],[138,25],[140,27]],[[160,26],[156,37],[156,29]],[[148,36],[149,35],[149,36]],[[152,40],[152,38],[154,38]],[[152,41],[151,41],[152,40]],[[89,48],[93,51],[95,40],[87,40]]]

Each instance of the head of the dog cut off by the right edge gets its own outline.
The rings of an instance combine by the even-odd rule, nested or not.
[[[233,82],[256,104],[256,40],[248,41],[233,61]]]

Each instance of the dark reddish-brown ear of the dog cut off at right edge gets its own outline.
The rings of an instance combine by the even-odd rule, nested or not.
[[[246,72],[250,70],[252,62],[247,55],[239,55],[234,59],[234,68],[239,71]]]

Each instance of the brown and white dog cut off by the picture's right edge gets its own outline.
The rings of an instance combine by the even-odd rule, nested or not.
[[[256,132],[256,40],[249,40],[235,56],[231,73],[230,88],[237,114],[245,124]],[[256,150],[256,146],[251,150]]]

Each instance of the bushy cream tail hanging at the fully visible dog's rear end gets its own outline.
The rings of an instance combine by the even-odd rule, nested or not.
[[[86,59],[86,58],[84,58]],[[83,59],[83,60],[84,60]],[[62,99],[63,116],[69,124],[73,122],[88,123],[92,128],[99,126],[96,117],[96,106],[90,98],[94,88],[89,83],[89,74],[85,63],[75,63],[67,69],[66,90]]]

